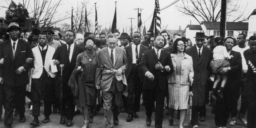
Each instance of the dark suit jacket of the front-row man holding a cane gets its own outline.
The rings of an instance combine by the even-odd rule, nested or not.
[[[53,60],[58,60],[60,64],[64,64],[64,69],[62,71],[62,83],[67,84],[68,80],[71,76],[72,71],[75,68],[75,62],[77,59],[77,55],[82,53],[84,51],[83,48],[75,45],[71,61],[69,61],[69,55],[68,55],[68,48],[67,45],[62,45],[59,46],[54,55],[53,55]],[[59,67],[59,66],[57,66]],[[60,72],[59,72],[60,73]]]

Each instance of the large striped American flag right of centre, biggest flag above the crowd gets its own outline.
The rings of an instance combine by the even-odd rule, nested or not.
[[[154,15],[150,25],[150,30],[154,31],[154,35],[161,32],[160,7],[158,0],[155,0]]]

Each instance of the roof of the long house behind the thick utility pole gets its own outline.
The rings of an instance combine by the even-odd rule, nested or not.
[[[203,21],[206,29],[220,29],[220,22]],[[226,22],[226,30],[243,30],[248,31],[248,22]]]

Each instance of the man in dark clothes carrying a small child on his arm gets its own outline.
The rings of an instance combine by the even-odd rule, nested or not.
[[[227,84],[223,91],[223,99],[216,95],[215,125],[223,127],[227,125],[227,120],[231,114],[230,125],[235,125],[237,120],[237,100],[240,97],[240,86],[242,75],[242,57],[239,52],[232,51],[234,40],[232,37],[225,38],[225,47],[233,58],[230,59],[230,66],[221,68],[220,73],[227,74]],[[234,113],[235,112],[235,113]]]

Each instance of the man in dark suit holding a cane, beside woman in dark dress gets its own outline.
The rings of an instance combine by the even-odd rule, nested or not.
[[[73,94],[68,86],[68,80],[75,68],[77,55],[84,51],[83,48],[74,44],[75,33],[72,30],[66,31],[66,45],[57,48],[53,55],[53,64],[64,65],[62,76],[62,96],[61,96],[61,117],[60,124],[72,126],[72,120],[75,112],[75,104],[73,103]],[[66,121],[67,119],[67,121]]]

